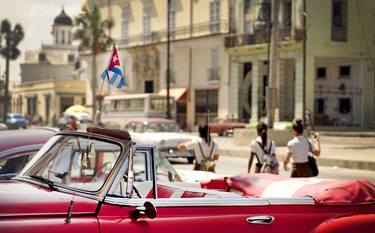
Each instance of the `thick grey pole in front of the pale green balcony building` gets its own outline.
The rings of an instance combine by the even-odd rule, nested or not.
[[[278,68],[278,37],[279,37],[279,9],[280,0],[273,0],[271,4],[271,51],[269,60],[269,77],[267,88],[267,120],[268,126],[273,128],[277,104],[277,68]]]

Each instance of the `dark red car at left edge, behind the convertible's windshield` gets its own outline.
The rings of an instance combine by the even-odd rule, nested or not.
[[[0,131],[0,180],[17,175],[56,132],[54,128]]]

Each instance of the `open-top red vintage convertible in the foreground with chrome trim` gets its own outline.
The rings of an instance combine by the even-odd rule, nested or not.
[[[0,182],[0,232],[373,232],[375,187],[349,186],[327,187],[355,201],[319,202],[315,193],[259,195],[264,187],[246,175],[157,182],[153,146],[89,128],[52,136],[17,177]]]

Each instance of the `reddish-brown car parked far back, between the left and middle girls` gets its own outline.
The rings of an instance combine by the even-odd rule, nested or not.
[[[233,118],[216,118],[212,123],[209,124],[209,127],[211,133],[217,133],[219,136],[227,136],[229,134],[233,134],[234,129],[245,128],[245,123],[241,123],[238,121],[238,119]]]

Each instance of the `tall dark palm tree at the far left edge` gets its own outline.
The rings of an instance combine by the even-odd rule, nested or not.
[[[23,28],[20,24],[12,30],[12,26],[7,19],[4,19],[1,22],[0,28],[1,37],[5,41],[5,46],[0,47],[0,54],[5,58],[5,95],[4,95],[4,122],[6,121],[6,115],[8,113],[9,105],[9,60],[16,60],[21,51],[17,48],[18,44],[22,41],[24,37]],[[1,40],[0,40],[1,43]]]

